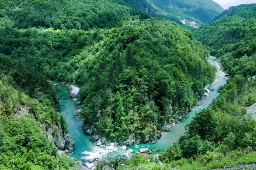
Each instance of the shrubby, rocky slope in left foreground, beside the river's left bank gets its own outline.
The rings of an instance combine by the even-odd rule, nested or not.
[[[58,155],[57,149],[73,147],[60,148],[54,140],[67,133],[56,96],[43,75],[24,63],[0,54],[0,169],[70,169],[74,160]]]

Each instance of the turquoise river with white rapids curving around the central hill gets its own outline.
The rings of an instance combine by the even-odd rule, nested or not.
[[[158,139],[155,144],[139,144],[139,148],[149,148],[153,152],[159,152],[160,150],[167,148],[174,142],[176,142],[182,135],[185,133],[185,125],[189,122],[195,113],[200,112],[202,108],[207,108],[209,104],[211,104],[212,100],[218,96],[218,88],[224,84],[226,84],[227,77],[220,70],[220,65],[215,61],[216,57],[209,57],[209,63],[212,66],[215,66],[217,69],[216,72],[216,81],[209,86],[209,89],[213,89],[209,96],[204,96],[196,106],[191,109],[191,112],[183,119],[182,122],[176,124],[173,127],[173,131],[171,132],[162,132],[161,139]],[[52,81],[53,84],[58,84],[55,88],[55,91],[58,95],[61,110],[60,114],[63,115],[68,124],[68,131],[72,135],[75,141],[75,150],[70,155],[71,157],[75,157],[77,160],[82,159],[85,163],[90,167],[92,164],[90,163],[90,159],[94,157],[106,157],[113,158],[115,156],[124,156],[126,157],[126,150],[121,150],[121,146],[115,146],[118,150],[112,153],[109,153],[106,148],[101,148],[96,146],[90,141],[90,136],[87,136],[82,131],[82,121],[76,116],[76,108],[77,102],[73,99],[69,98],[70,95],[70,87],[60,84],[59,82]],[[135,153],[139,150],[139,148],[135,148],[131,146],[127,149],[133,149]]]

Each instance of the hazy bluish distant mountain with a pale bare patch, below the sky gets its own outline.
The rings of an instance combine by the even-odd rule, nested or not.
[[[210,23],[223,8],[213,0],[124,0],[132,6],[158,16],[187,25]]]

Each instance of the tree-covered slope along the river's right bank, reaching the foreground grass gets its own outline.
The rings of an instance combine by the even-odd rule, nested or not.
[[[250,10],[254,7],[234,7],[232,15],[195,31],[231,77],[210,107],[186,125],[186,135],[160,153],[164,167],[157,159],[137,156],[117,169],[203,170],[256,163],[256,121],[246,109],[256,102],[256,79],[252,77],[256,74],[256,20],[255,11]]]

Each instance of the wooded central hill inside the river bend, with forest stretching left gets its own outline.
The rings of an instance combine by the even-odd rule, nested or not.
[[[181,119],[202,96],[214,73],[190,31],[140,18],[89,31],[4,28],[0,51],[26,58],[46,77],[81,85],[81,116],[94,135],[155,141],[164,124]]]

